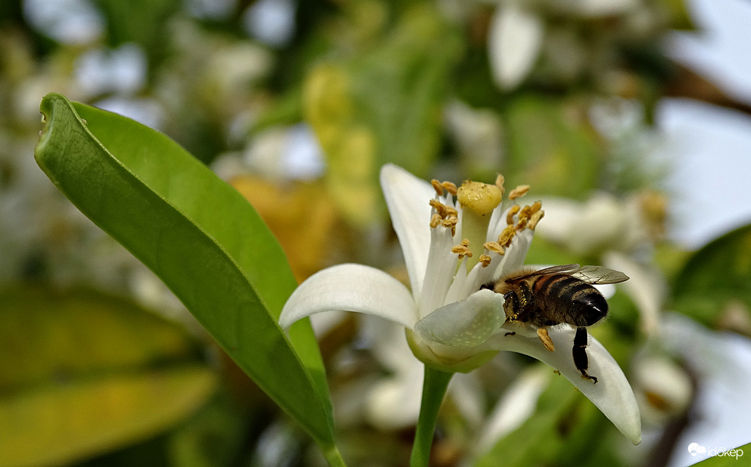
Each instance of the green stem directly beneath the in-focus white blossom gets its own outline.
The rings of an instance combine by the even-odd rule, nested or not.
[[[438,411],[443,396],[448,389],[448,381],[454,373],[446,373],[425,366],[423,395],[420,405],[420,417],[415,431],[415,444],[412,445],[410,467],[427,467],[430,461],[430,448],[433,446],[433,432],[436,430]]]

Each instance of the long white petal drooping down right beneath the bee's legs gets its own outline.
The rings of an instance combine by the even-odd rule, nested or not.
[[[520,335],[505,336],[499,333],[489,345],[505,351],[519,352],[541,360],[558,369],[599,408],[634,444],[641,442],[641,417],[634,392],[623,375],[618,363],[608,351],[590,336],[587,347],[589,368],[587,372],[597,378],[597,384],[581,377],[574,365],[572,346],[575,330],[571,327],[556,327],[549,330],[555,351],[548,351],[539,339]]]

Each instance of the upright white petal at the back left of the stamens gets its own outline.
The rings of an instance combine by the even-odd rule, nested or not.
[[[420,297],[430,249],[430,200],[436,191],[394,164],[381,168],[381,188],[402,246],[412,294]]]

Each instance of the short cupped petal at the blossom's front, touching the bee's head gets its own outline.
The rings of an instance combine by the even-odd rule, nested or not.
[[[422,318],[415,324],[415,333],[442,345],[474,347],[490,339],[505,319],[503,296],[482,290]]]

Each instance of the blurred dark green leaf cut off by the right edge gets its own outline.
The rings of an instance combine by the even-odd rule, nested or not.
[[[751,318],[751,225],[707,243],[686,261],[673,284],[674,308],[708,327]],[[742,318],[742,317],[740,317]],[[741,319],[743,321],[743,319]],[[748,332],[748,330],[744,330]]]

